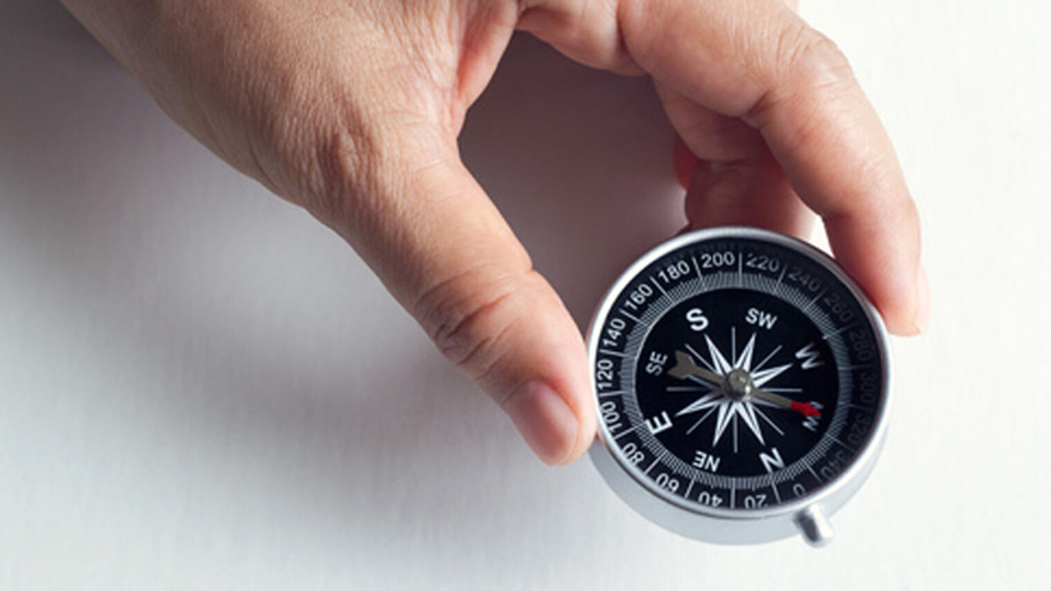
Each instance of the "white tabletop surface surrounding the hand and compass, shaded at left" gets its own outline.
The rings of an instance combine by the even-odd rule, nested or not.
[[[810,0],[900,150],[930,333],[815,551],[722,548],[542,467],[334,235],[0,4],[0,588],[1043,588],[1051,4]],[[465,158],[586,323],[682,223],[645,80],[515,39]],[[829,155],[833,158],[834,155]],[[616,237],[616,238],[611,238]]]

